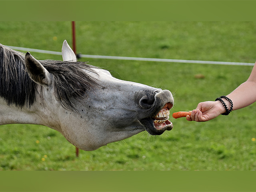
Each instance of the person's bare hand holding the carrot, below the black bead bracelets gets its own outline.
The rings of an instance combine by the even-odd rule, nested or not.
[[[204,122],[212,120],[224,113],[224,108],[219,101],[206,101],[198,104],[197,108],[191,111],[191,115],[186,116],[188,121]]]

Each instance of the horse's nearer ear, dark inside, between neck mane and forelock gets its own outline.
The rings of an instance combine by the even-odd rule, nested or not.
[[[25,55],[25,68],[30,78],[37,84],[50,84],[50,73],[29,52]]]

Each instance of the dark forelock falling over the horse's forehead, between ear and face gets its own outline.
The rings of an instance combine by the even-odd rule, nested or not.
[[[40,60],[53,75],[54,96],[67,109],[75,109],[73,101],[86,97],[86,91],[98,86],[96,79],[82,69],[96,73],[94,66],[85,62],[63,62],[56,60]]]

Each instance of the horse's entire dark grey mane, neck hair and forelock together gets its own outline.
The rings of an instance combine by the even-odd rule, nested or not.
[[[24,53],[0,44],[0,97],[8,105],[30,107],[42,86],[30,79],[24,65]],[[98,86],[96,80],[85,72],[96,73],[86,62],[39,61],[52,74],[54,96],[66,109],[75,110],[74,101],[86,97],[86,91]]]

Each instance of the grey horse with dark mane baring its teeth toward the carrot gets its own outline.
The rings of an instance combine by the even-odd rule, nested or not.
[[[44,125],[85,151],[142,131],[172,130],[169,90],[120,80],[78,62],[66,40],[62,58],[36,60],[0,44],[0,125]]]

